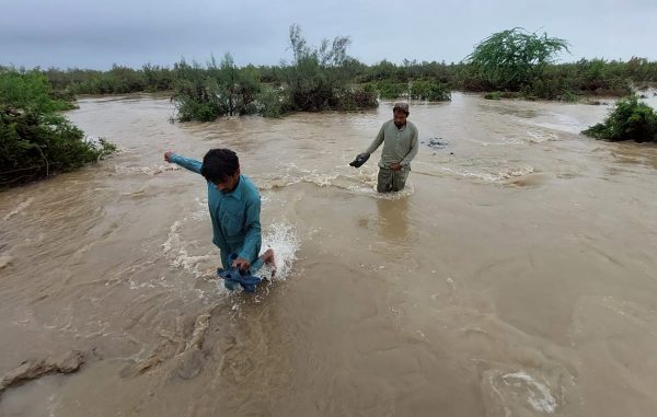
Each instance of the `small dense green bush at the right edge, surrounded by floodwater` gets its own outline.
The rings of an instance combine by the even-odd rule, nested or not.
[[[636,95],[619,100],[603,123],[583,131],[596,139],[657,142],[657,114]]]

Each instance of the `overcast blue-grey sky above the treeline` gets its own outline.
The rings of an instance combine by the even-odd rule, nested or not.
[[[0,65],[108,69],[231,53],[239,65],[289,60],[307,40],[349,36],[366,63],[460,61],[494,32],[525,27],[579,58],[657,60],[657,0],[0,0]]]

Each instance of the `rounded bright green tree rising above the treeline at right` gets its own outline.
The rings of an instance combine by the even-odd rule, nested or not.
[[[538,80],[561,50],[568,51],[566,40],[515,27],[482,40],[465,62],[484,90],[520,91]]]

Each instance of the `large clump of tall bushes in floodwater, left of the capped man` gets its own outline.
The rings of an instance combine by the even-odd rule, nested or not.
[[[205,67],[182,60],[174,66],[173,97],[181,121],[210,121],[219,116],[262,114],[277,117],[289,112],[354,111],[376,107],[376,92],[351,84],[354,58],[347,37],[308,46],[297,25],[290,27],[293,60],[268,74],[254,66],[238,68],[227,54]]]

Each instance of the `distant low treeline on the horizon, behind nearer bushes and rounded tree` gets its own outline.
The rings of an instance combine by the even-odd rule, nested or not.
[[[408,94],[408,83],[435,82],[449,90],[492,92],[500,91],[496,85],[482,80],[468,63],[417,62],[404,60],[394,63],[382,60],[365,65],[349,58],[348,72],[355,85],[369,86],[381,94],[382,99],[396,99]],[[172,68],[145,65],[140,69],[113,66],[111,70],[56,69],[41,70],[56,93],[67,94],[127,94],[139,92],[171,92],[185,61]],[[0,67],[2,68],[2,67]],[[283,85],[285,72],[289,66],[242,67],[250,71],[257,82],[266,85]],[[7,69],[7,68],[5,68]],[[208,68],[201,71],[210,72]],[[657,61],[645,58],[632,58],[629,61],[581,59],[577,62],[551,63],[545,67],[542,82],[530,90],[538,99],[562,100],[564,93],[575,95],[626,95],[632,84],[657,82]]]

